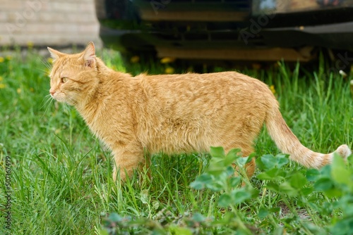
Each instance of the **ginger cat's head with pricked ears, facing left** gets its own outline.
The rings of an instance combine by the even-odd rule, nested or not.
[[[49,74],[52,98],[70,105],[87,101],[99,84],[93,42],[77,54],[61,53],[49,47],[48,50],[54,59]]]

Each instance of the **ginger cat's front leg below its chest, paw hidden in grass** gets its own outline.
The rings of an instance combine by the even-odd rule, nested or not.
[[[114,170],[113,179],[124,182],[126,177],[131,178],[133,171],[142,169],[146,164],[143,147],[140,144],[128,144],[124,147],[117,148],[114,153]],[[118,177],[119,173],[119,177]]]

